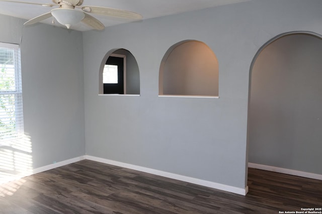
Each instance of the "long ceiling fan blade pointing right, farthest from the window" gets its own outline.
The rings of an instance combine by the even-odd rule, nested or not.
[[[104,8],[104,7],[94,7],[94,6],[84,6],[82,10],[87,13],[93,13],[103,16],[110,16],[110,17],[117,17],[117,18],[125,18],[125,19],[134,19],[140,20],[142,16],[140,14],[130,12],[130,11],[123,11],[114,8]]]

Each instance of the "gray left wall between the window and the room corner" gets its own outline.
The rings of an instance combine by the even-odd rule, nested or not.
[[[21,43],[24,126],[37,168],[85,154],[83,37],[24,21],[0,15],[0,41]]]

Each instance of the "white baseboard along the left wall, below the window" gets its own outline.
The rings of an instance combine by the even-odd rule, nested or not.
[[[71,158],[71,159],[68,159],[68,160],[63,160],[63,161],[56,162],[56,163],[52,163],[52,164],[49,164],[49,165],[46,165],[46,166],[41,166],[39,168],[26,170],[25,172],[22,172],[20,174],[15,174],[15,175],[12,175],[12,176],[7,177],[5,179],[1,179],[0,180],[0,184],[1,183],[6,183],[6,182],[10,182],[10,181],[13,181],[13,180],[18,180],[20,178],[23,178],[23,177],[26,177],[26,176],[29,176],[29,175],[32,175],[32,174],[36,174],[36,173],[39,173],[39,172],[47,171],[49,169],[57,168],[59,166],[64,166],[64,165],[67,165],[67,164],[70,164],[70,163],[74,163],[74,162],[77,162],[79,160],[84,160],[84,159],[85,159],[85,155],[79,156],[79,157],[75,157],[75,158]]]

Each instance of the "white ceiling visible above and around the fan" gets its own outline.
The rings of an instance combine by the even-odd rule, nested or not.
[[[52,4],[51,0],[15,1]],[[84,0],[82,6],[99,6],[132,11],[141,14],[144,20],[246,1],[249,0]],[[48,13],[51,9],[53,8],[0,1],[0,14],[18,17],[26,20]],[[129,22],[123,19],[115,19],[93,14],[91,15],[100,20],[105,25],[105,27]],[[49,18],[42,23],[53,25],[52,18]],[[57,22],[54,25],[64,28],[64,26],[61,26]],[[72,29],[78,31],[90,30],[85,24],[77,24],[73,26]]]

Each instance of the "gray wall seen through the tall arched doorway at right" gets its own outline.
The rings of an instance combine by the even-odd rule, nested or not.
[[[252,70],[249,161],[322,174],[322,39],[279,38]]]

